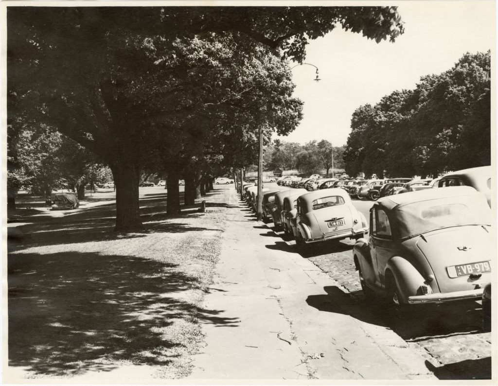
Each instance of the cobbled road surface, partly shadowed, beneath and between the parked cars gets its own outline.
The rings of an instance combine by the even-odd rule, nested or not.
[[[276,183],[265,187],[286,190]],[[353,200],[355,207],[369,218],[373,201]],[[272,227],[272,223],[267,224]],[[283,232],[275,233],[284,240]],[[293,246],[292,240],[285,239]],[[308,245],[301,256],[312,261],[322,271],[340,283],[340,290],[358,300],[353,311],[358,318],[392,329],[405,342],[416,343],[427,353],[428,366],[440,379],[491,378],[491,333],[481,332],[481,302],[456,302],[417,306],[403,320],[387,316],[384,305],[368,304],[358,280],[352,258],[354,242],[347,239],[334,246],[331,243]]]

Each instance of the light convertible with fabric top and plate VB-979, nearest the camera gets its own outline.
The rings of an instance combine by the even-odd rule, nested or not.
[[[496,258],[486,198],[467,186],[378,199],[353,248],[366,297],[395,305],[481,298]]]

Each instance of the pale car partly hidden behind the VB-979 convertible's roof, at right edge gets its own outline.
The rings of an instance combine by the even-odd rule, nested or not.
[[[441,177],[438,186],[472,186],[477,191],[483,193],[491,208],[491,176],[493,174],[491,166],[473,167],[470,169],[457,170],[447,173]]]

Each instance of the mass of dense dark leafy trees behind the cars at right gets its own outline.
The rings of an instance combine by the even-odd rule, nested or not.
[[[491,164],[491,53],[466,53],[414,90],[360,106],[344,151],[356,175],[436,176]]]

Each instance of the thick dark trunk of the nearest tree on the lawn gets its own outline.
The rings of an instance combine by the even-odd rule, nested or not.
[[[138,200],[139,168],[131,157],[111,166],[116,190],[116,232],[140,232],[144,227],[140,221]]]

